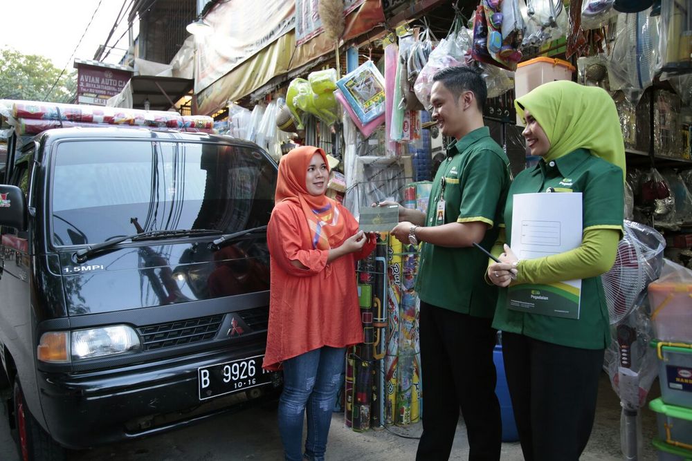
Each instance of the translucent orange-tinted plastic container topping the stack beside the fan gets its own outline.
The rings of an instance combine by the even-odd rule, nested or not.
[[[656,338],[692,343],[692,284],[650,283],[648,297]]]

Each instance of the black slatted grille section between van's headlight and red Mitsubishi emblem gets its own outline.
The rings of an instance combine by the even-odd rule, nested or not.
[[[155,350],[199,343],[213,339],[221,326],[222,315],[198,317],[137,328],[144,350]]]

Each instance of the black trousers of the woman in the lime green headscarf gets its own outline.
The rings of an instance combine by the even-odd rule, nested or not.
[[[603,352],[502,333],[504,369],[526,461],[579,460],[594,425]]]

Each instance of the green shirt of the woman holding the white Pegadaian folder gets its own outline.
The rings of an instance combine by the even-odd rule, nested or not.
[[[504,208],[507,244],[511,246],[512,197],[535,192],[581,192],[584,229],[622,230],[624,191],[622,170],[577,149],[517,175]],[[569,210],[565,210],[569,212]],[[565,280],[571,279],[565,274]],[[608,306],[601,277],[583,279],[579,319],[527,314],[507,309],[507,289],[500,289],[493,327],[553,344],[583,349],[602,349],[610,344]]]

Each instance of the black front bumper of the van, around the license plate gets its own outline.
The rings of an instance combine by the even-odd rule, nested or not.
[[[38,372],[48,433],[70,449],[140,438],[277,399],[282,376],[245,391],[199,399],[200,367],[262,355],[264,344],[88,373]]]

